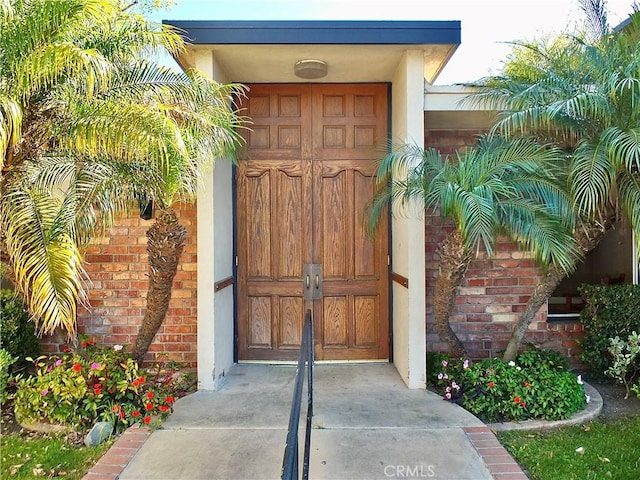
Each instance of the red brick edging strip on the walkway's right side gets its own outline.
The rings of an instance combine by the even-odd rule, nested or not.
[[[520,465],[500,444],[489,427],[464,427],[463,430],[494,479],[527,480]]]

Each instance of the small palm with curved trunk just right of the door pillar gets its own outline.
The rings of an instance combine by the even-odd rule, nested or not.
[[[449,323],[457,288],[474,256],[481,251],[493,255],[499,235],[530,251],[542,265],[571,268],[573,216],[555,177],[558,156],[556,148],[526,139],[493,137],[481,138],[454,158],[409,145],[380,163],[370,226],[389,199],[396,204],[394,211],[417,199],[426,211],[453,223],[439,247],[433,309],[436,330],[454,355],[466,355]]]

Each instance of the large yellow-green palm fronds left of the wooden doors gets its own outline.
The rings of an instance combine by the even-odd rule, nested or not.
[[[0,30],[2,264],[39,332],[73,338],[82,247],[141,194],[169,216],[193,199],[238,141],[242,89],[150,60],[182,38],[117,0],[0,0]]]

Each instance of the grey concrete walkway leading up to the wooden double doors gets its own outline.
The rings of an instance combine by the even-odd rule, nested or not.
[[[219,391],[179,400],[115,478],[280,478],[294,377],[290,366],[234,366]],[[407,389],[393,365],[316,365],[314,413],[311,479],[527,478],[488,427]]]

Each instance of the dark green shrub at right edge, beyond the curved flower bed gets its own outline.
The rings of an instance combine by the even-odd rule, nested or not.
[[[613,366],[610,339],[640,332],[640,286],[583,284],[578,291],[585,299],[580,314],[584,326],[581,359],[592,375],[604,379]]]

